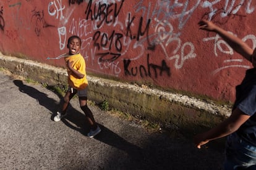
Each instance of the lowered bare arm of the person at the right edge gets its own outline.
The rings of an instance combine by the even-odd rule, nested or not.
[[[218,126],[195,136],[194,144],[197,146],[197,148],[201,148],[202,145],[207,144],[210,140],[228,136],[229,134],[237,131],[237,129],[249,118],[249,115],[245,115],[239,108],[236,108],[231,116]]]

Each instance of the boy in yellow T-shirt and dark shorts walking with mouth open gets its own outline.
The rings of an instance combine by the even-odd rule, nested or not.
[[[91,126],[90,132],[88,132],[88,137],[95,137],[101,132],[100,127],[96,124],[93,118],[92,111],[87,107],[87,86],[88,80],[86,78],[85,71],[85,60],[79,53],[80,46],[82,44],[79,36],[70,36],[67,41],[67,48],[69,53],[67,57],[64,57],[67,67],[67,83],[69,87],[67,89],[66,95],[64,96],[64,104],[62,110],[57,112],[54,116],[54,121],[60,121],[61,118],[67,115],[67,107],[69,106],[69,101],[74,97],[75,94],[79,97],[80,108],[85,113],[88,123]]]

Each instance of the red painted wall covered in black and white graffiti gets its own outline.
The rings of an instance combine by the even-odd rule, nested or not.
[[[213,20],[255,47],[255,8],[241,0],[1,1],[0,51],[64,67],[58,56],[76,34],[88,72],[233,102],[252,66],[197,23]]]

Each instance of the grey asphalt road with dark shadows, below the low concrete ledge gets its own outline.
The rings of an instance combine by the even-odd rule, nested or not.
[[[94,139],[77,99],[54,122],[61,100],[40,84],[0,71],[0,169],[221,169],[224,145],[148,132],[90,105],[102,131]],[[90,96],[89,96],[90,99]]]

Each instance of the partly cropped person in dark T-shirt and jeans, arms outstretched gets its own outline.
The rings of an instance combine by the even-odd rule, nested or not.
[[[252,62],[242,83],[236,87],[236,101],[231,116],[218,126],[194,138],[197,148],[210,140],[228,136],[224,169],[256,169],[256,49],[207,20],[199,22],[202,30],[218,33],[234,51]]]

